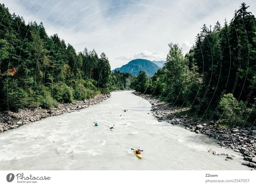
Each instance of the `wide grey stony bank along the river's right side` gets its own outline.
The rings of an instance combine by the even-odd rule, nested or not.
[[[219,140],[218,143],[220,146],[226,146],[236,152],[242,153],[244,160],[248,161],[242,163],[243,165],[256,169],[256,127],[228,128],[220,127],[216,124],[216,121],[210,119],[196,121],[188,115],[178,114],[182,111],[188,111],[188,108],[172,107],[150,95],[136,92],[133,93],[151,103],[153,116],[155,116],[159,122],[165,121],[173,125],[180,124],[183,125],[185,129],[192,132],[202,133],[213,137]],[[234,158],[228,154],[218,154],[212,149],[208,152],[213,153],[214,155],[225,155],[227,156],[226,160],[232,160]]]

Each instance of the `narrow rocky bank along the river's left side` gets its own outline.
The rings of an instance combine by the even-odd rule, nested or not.
[[[101,94],[90,100],[74,101],[73,103],[60,104],[58,108],[53,109],[19,109],[18,112],[5,111],[0,112],[0,132],[15,129],[21,125],[28,124],[43,118],[61,115],[66,112],[74,112],[90,105],[99,104],[110,97],[110,94]]]

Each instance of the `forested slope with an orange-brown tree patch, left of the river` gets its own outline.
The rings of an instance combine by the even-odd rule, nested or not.
[[[26,24],[0,4],[0,109],[52,108],[129,89],[131,74],[111,73],[104,53],[76,52],[43,23]]]

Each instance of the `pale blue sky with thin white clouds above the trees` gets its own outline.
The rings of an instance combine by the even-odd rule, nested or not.
[[[165,60],[169,43],[189,51],[203,24],[221,25],[245,2],[256,15],[256,0],[0,0],[26,23],[43,22],[76,52],[104,52],[111,69],[132,59]]]

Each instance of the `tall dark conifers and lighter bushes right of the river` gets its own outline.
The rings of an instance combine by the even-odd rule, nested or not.
[[[193,118],[215,118],[224,125],[255,124],[256,20],[242,3],[233,19],[207,27],[183,56],[178,44],[163,69],[148,78],[140,72],[132,87],[180,106]]]

